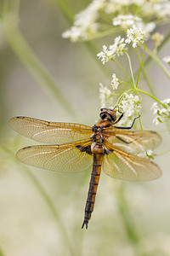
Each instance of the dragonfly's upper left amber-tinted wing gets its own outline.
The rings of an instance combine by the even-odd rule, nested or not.
[[[9,120],[14,131],[39,143],[67,143],[86,139],[93,133],[88,125],[54,123],[28,117]]]

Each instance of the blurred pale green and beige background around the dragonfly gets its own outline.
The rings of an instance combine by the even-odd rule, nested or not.
[[[96,41],[98,51],[90,44],[71,44],[61,38],[70,24],[59,9],[59,2],[23,0],[20,9],[16,8],[18,1],[10,6],[19,11],[18,20],[14,22],[18,22],[22,36],[48,70],[48,77],[58,86],[54,93],[38,80],[37,74],[32,76],[26,62],[20,61],[26,60],[26,52],[21,50],[20,41],[16,41],[13,48],[13,37],[15,40],[17,33],[11,27],[11,33],[4,37],[3,24],[0,26],[0,256],[168,256],[170,172],[167,154],[156,158],[163,176],[150,183],[122,182],[102,173],[88,230],[81,230],[81,226],[90,170],[77,174],[48,172],[15,160],[19,148],[34,142],[12,131],[8,119],[24,115],[94,125],[99,118],[99,82],[106,84],[111,79],[111,75],[106,77],[102,72],[94,56],[114,37]],[[77,13],[90,2],[71,0],[68,3]],[[166,26],[161,29],[168,30]],[[19,57],[15,49],[19,49]],[[165,45],[160,57],[167,55],[167,50]],[[115,64],[108,68],[109,73],[117,70]],[[160,99],[168,97],[169,81],[159,67],[150,62],[148,73],[152,84],[156,84],[156,95]],[[141,85],[147,88],[144,81]],[[151,103],[144,97],[142,122],[144,129],[156,128],[161,132],[163,142],[156,150],[159,154],[169,149],[169,133],[166,126],[152,124]]]

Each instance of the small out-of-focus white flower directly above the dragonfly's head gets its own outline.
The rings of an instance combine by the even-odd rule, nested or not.
[[[99,100],[101,108],[105,108],[106,104],[111,103],[112,96],[113,94],[111,93],[111,90],[99,83]]]

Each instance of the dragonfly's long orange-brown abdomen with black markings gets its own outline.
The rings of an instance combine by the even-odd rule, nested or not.
[[[84,225],[86,225],[86,229],[88,229],[88,220],[91,218],[91,214],[94,211],[94,201],[99,184],[102,160],[104,157],[104,149],[101,144],[96,143],[94,145],[94,148],[92,149],[92,156],[93,169],[89,183],[88,199],[86,201],[84,221],[82,224],[82,228],[84,227]]]

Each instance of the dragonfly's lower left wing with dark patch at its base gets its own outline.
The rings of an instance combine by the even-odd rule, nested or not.
[[[16,154],[29,166],[59,172],[82,172],[92,165],[91,141],[22,148]]]

